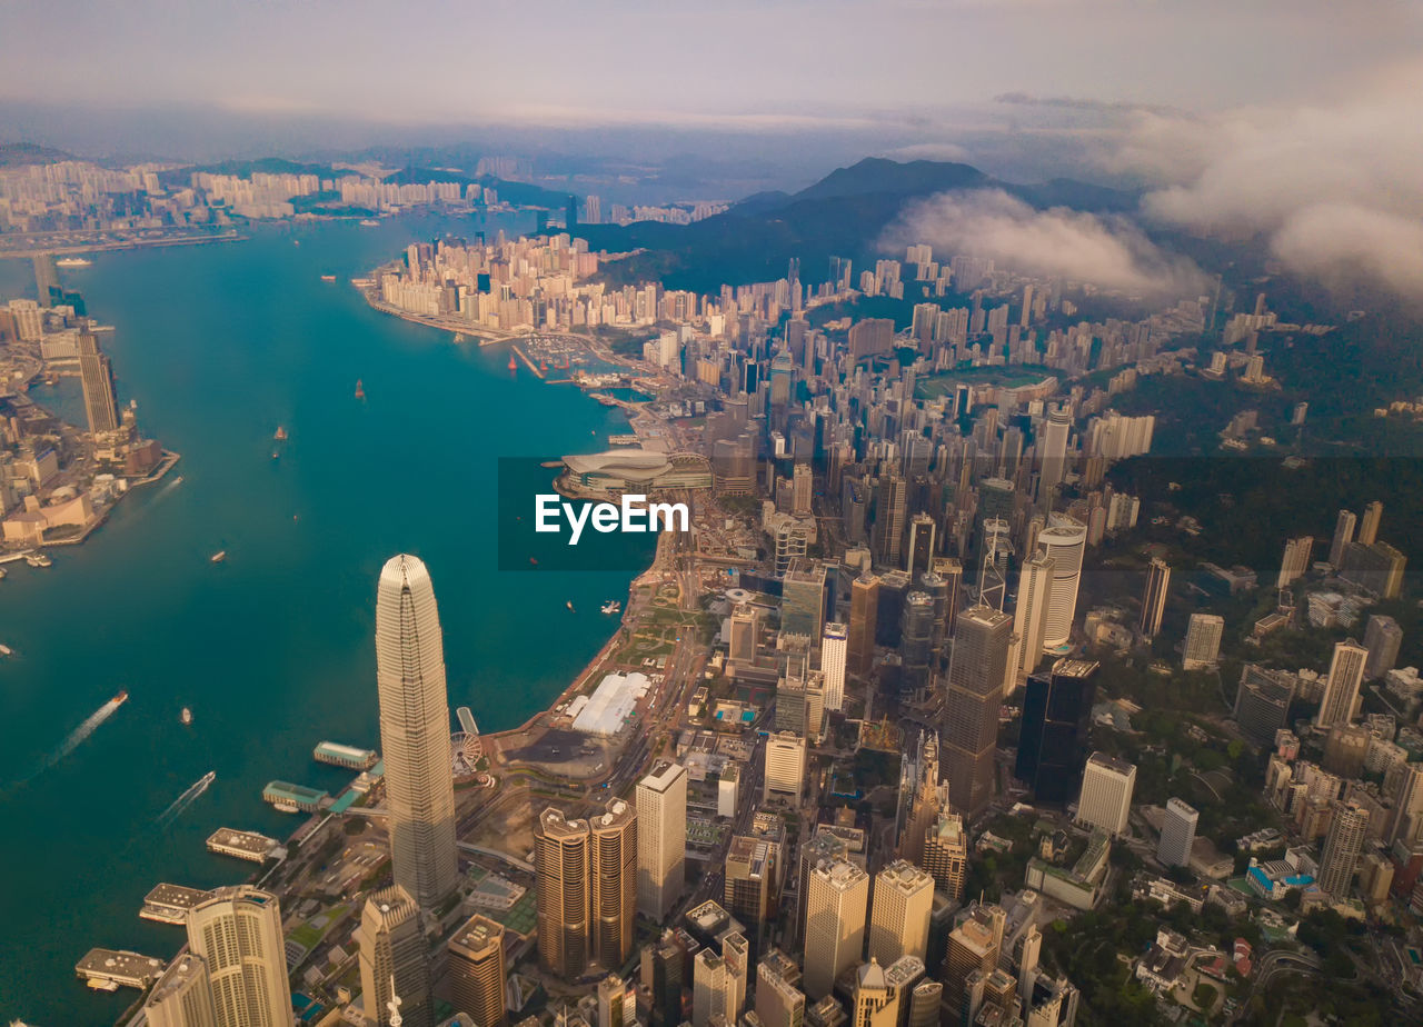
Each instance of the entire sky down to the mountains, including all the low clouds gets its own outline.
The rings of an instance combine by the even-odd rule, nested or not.
[[[724,191],[683,199],[955,159],[1128,185],[1141,209],[933,198],[887,246],[1188,287],[1143,235],[1164,226],[1423,297],[1416,0],[0,0],[0,141],[188,159],[477,141]]]

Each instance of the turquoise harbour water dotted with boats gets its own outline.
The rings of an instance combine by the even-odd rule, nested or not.
[[[502,347],[377,314],[347,284],[413,239],[478,228],[260,229],[61,272],[118,329],[104,346],[120,400],[184,458],[51,569],[10,563],[0,582],[0,643],[16,650],[0,659],[0,1023],[111,1023],[137,993],[90,993],[75,960],[94,944],[171,956],[182,932],[139,920],[142,896],[243,879],[250,865],[208,853],[206,835],[285,836],[297,821],[262,802],[266,781],[334,788],[349,775],[312,747],[379,744],[373,607],[393,553],[428,563],[450,704],[482,730],[542,708],[606,640],[598,606],[626,597],[629,572],[498,572],[495,464],[588,451],[626,421],[511,376]],[[28,260],[0,262],[0,297],[33,292]],[[81,417],[73,381],[36,395]],[[129,701],[55,760],[121,687]],[[209,770],[208,792],[159,824]]]

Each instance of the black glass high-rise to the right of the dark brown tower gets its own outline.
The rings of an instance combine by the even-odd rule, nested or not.
[[[1069,659],[1027,679],[1013,774],[1039,802],[1064,804],[1081,788],[1096,680],[1094,661]]]

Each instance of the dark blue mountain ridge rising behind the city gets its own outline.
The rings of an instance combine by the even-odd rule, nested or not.
[[[966,164],[865,158],[837,168],[797,193],[756,193],[692,225],[579,225],[573,235],[595,250],[646,250],[606,265],[605,276],[615,286],[657,277],[669,289],[712,292],[723,283],[783,277],[791,257],[800,259],[803,280],[814,283],[822,280],[832,255],[851,257],[857,266],[882,256],[877,250],[879,235],[908,201],[952,189],[988,188],[1003,189],[1037,208],[1116,212],[1137,205],[1134,193],[1073,179],[1019,185]]]

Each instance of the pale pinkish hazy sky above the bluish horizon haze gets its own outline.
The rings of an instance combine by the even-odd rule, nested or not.
[[[0,100],[380,121],[857,122],[1002,92],[1328,101],[1423,47],[1387,0],[0,0]]]

